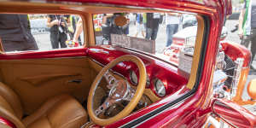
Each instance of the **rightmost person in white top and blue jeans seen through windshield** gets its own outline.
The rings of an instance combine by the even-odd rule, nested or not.
[[[172,36],[177,32],[180,17],[177,14],[166,14],[166,47],[172,44]]]

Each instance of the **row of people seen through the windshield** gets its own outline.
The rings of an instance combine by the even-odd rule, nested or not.
[[[111,34],[129,34],[129,23],[126,26],[116,26],[114,23],[114,18],[123,15],[129,19],[127,14],[105,14],[102,18],[102,35],[104,39],[108,41],[110,39]],[[166,47],[172,44],[172,35],[174,35],[178,26],[182,22],[182,16],[177,13],[169,13],[169,14],[160,14],[160,13],[137,13],[136,15],[135,25],[137,27],[137,32],[134,37],[138,37],[139,34],[143,36],[145,39],[154,40],[157,38],[157,34],[159,32],[160,24],[166,24]]]

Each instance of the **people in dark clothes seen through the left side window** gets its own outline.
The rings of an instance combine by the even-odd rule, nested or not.
[[[0,14],[0,17],[0,39],[4,51],[38,50],[29,15]],[[80,41],[79,36],[75,37],[78,22],[76,15],[47,15],[52,49],[67,48],[67,39]]]

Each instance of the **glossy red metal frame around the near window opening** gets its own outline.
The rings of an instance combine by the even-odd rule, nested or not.
[[[101,2],[107,3],[106,1]],[[199,81],[199,86],[195,94],[189,96],[186,100],[183,100],[183,102],[177,103],[175,107],[168,108],[164,112],[158,113],[158,115],[155,115],[153,118],[146,119],[137,125],[137,127],[201,127],[204,125],[204,122],[207,119],[207,113],[209,113],[205,110],[209,109],[211,102],[209,98],[211,96],[212,90],[210,79],[212,78],[212,71],[214,70],[215,65],[215,56],[217,54],[217,50],[212,49],[218,49],[218,37],[220,36],[223,25],[223,3],[219,3],[218,1],[211,1],[210,3],[202,5],[200,3],[183,1],[186,3],[186,6],[183,6],[184,4],[181,1],[163,0],[154,1],[153,3],[149,3],[149,1],[142,1],[142,3],[141,1],[137,3],[131,3],[131,1],[129,2],[130,3],[127,3],[126,1],[108,1],[110,4],[128,4],[131,6],[137,4],[138,6],[147,6],[160,9],[186,9],[189,12],[207,15],[209,18],[210,26],[209,32],[207,32],[207,51],[204,57],[204,67],[201,67],[201,80]],[[180,90],[184,91],[187,89],[181,88]],[[109,125],[108,127],[119,127],[121,125],[125,125],[126,123],[131,122],[133,119],[137,119],[146,113],[152,112],[156,108],[160,108],[160,106],[172,102],[174,99],[177,99],[178,96],[183,96],[184,93],[179,95],[174,94],[163,98],[160,100],[160,102],[156,102],[152,106],[144,108],[137,113],[132,113],[125,119],[121,119],[113,125]]]

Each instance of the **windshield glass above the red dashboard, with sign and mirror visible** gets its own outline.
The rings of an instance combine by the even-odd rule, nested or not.
[[[93,15],[96,44],[136,49],[168,61],[189,77],[197,20],[179,13]]]

